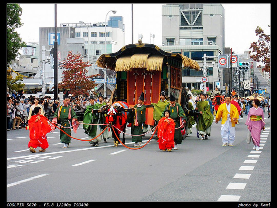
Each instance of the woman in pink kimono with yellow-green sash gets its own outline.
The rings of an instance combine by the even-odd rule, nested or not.
[[[248,130],[251,133],[252,141],[254,143],[253,149],[260,150],[260,136],[261,130],[265,129],[265,119],[263,109],[259,107],[260,101],[257,98],[253,100],[252,105],[253,107],[249,110],[245,125],[248,126]]]

